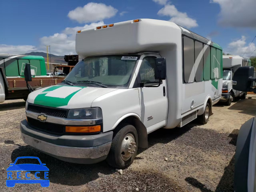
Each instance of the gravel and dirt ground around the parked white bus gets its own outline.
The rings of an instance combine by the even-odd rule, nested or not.
[[[206,125],[194,121],[183,128],[149,134],[149,148],[139,150],[122,175],[106,162],[72,164],[27,146],[19,130],[25,102],[6,101],[0,104],[0,191],[233,191],[237,133],[256,112],[256,96],[248,97],[252,98],[231,106],[216,104]],[[19,156],[37,156],[46,164],[48,188],[40,184],[6,187],[6,168]]]

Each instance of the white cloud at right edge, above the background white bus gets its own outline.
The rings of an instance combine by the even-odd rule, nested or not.
[[[234,40],[228,44],[228,48],[225,50],[225,52],[233,54],[233,55],[240,55],[242,56],[244,52],[247,50],[248,46],[250,45],[246,43],[246,37],[242,36],[238,40]],[[244,54],[244,57],[249,57],[250,54],[256,49],[256,46],[254,43],[250,45],[246,53]]]

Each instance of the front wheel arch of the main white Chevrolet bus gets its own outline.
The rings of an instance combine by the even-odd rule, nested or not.
[[[140,120],[140,116],[138,114],[126,114],[122,116],[121,118],[116,121],[116,123],[113,126],[113,137],[116,135],[116,133],[122,128],[122,126],[119,126],[121,124],[131,124],[136,128],[136,131],[138,133],[138,147],[139,148],[148,148],[148,134],[147,129],[144,126],[144,124]]]

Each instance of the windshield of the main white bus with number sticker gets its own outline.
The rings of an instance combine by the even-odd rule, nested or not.
[[[104,55],[85,58],[76,64],[65,80],[74,85],[127,87],[138,55]]]

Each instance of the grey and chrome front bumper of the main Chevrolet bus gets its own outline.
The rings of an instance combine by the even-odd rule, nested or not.
[[[92,164],[105,160],[113,132],[97,135],[57,136],[32,128],[26,120],[20,123],[23,141],[50,156],[66,162]]]

